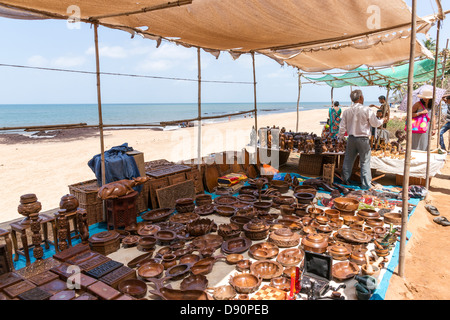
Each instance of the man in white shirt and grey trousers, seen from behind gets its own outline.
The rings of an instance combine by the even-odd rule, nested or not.
[[[342,113],[339,125],[339,138],[348,134],[347,148],[342,166],[342,180],[348,184],[352,174],[353,164],[359,154],[361,167],[361,188],[370,189],[372,173],[370,171],[370,142],[371,127],[378,128],[387,122],[387,117],[378,119],[368,106],[363,106],[364,96],[361,90],[354,90],[350,94],[353,104]]]

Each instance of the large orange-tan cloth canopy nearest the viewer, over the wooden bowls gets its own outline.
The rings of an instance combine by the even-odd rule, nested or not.
[[[0,16],[11,17],[11,9],[52,19],[75,12],[80,21],[157,41],[233,58],[259,52],[302,70],[390,65],[409,56],[411,10],[404,0],[0,0]],[[417,31],[427,32],[435,20],[417,17]],[[418,46],[416,56],[424,54]]]

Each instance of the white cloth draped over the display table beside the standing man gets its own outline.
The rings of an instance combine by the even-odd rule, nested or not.
[[[438,154],[437,151],[431,153],[430,157],[430,177],[434,177],[445,165],[447,154]],[[370,168],[385,173],[392,173],[403,176],[405,168],[405,159],[392,159],[387,157],[371,157]],[[411,152],[411,169],[409,175],[415,178],[426,178],[427,173],[427,152]]]

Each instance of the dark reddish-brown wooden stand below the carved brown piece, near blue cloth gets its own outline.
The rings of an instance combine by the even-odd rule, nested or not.
[[[138,192],[106,200],[106,223],[109,230],[126,227],[136,223],[136,199]]]

